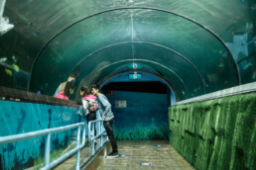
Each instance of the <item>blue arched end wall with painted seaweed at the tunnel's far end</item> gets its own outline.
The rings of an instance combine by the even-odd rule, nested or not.
[[[176,101],[168,80],[154,72],[117,72],[99,82],[115,114],[118,139],[168,139],[168,106]]]

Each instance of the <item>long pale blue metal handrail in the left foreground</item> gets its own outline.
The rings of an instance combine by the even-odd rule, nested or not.
[[[82,133],[82,143],[80,143],[80,127],[83,127],[83,133]],[[59,132],[59,131],[64,131],[66,129],[74,128],[77,127],[77,132],[76,132],[76,147],[73,148],[72,150],[68,151],[65,153],[63,156],[60,158],[56,159],[55,161],[51,162],[50,161],[50,148],[51,148],[51,133]],[[11,143],[15,141],[20,141],[20,140],[25,140],[28,138],[33,138],[41,135],[47,135],[47,142],[46,142],[46,152],[45,152],[45,167],[43,167],[41,170],[47,170],[55,167],[62,161],[64,161],[66,158],[71,156],[76,152],[76,170],[79,169],[79,155],[80,155],[80,149],[83,148],[85,145],[85,124],[84,123],[79,123],[79,124],[74,124],[70,126],[65,126],[65,127],[55,127],[55,128],[48,128],[48,129],[42,129],[42,130],[37,130],[37,131],[32,131],[32,132],[26,132],[26,133],[21,133],[21,134],[14,134],[14,135],[8,135],[8,136],[2,136],[0,137],[0,145],[1,144],[6,144],[6,143]],[[94,144],[94,143],[93,143]]]

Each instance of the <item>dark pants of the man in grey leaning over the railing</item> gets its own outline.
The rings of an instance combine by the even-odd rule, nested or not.
[[[116,140],[115,140],[114,132],[113,132],[113,122],[114,122],[114,119],[112,119],[110,121],[104,121],[103,126],[105,127],[107,136],[110,139],[110,142],[112,145],[112,151],[114,153],[117,153],[118,149],[117,149],[117,144],[116,144]]]

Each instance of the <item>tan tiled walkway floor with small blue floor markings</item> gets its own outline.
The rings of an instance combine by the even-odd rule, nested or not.
[[[157,146],[154,146],[157,145]],[[119,156],[103,159],[97,170],[193,170],[168,140],[118,141]],[[141,165],[145,163],[147,165]]]

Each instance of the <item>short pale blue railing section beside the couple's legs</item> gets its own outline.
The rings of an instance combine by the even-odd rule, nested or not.
[[[95,124],[98,123],[100,124],[99,126],[99,131],[97,132],[97,135],[94,136],[94,127],[95,127]],[[103,120],[96,120],[96,121],[90,121],[89,124],[88,124],[88,133],[89,135],[88,136],[91,136],[90,139],[91,139],[91,155],[94,155],[95,154],[95,151],[94,151],[94,139],[95,138],[98,138],[100,137],[100,147],[103,146],[103,144],[105,142],[108,141],[108,136],[105,140],[105,142],[103,143],[103,134],[105,134],[106,130],[102,130],[101,128],[103,127]],[[90,130],[92,128],[92,130]],[[102,130],[102,131],[101,131]]]

